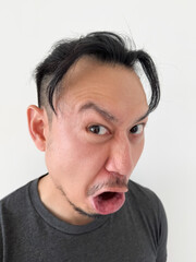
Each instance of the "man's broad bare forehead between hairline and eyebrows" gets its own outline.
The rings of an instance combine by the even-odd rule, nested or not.
[[[60,104],[72,107],[93,102],[112,111],[147,108],[143,85],[132,69],[89,57],[82,58],[69,70],[62,88]]]

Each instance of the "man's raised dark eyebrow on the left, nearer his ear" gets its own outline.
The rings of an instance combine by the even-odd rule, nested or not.
[[[111,115],[109,111],[107,111],[106,109],[99,107],[98,105],[96,105],[93,102],[89,102],[85,105],[83,105],[78,111],[85,111],[87,109],[94,109],[95,111],[97,111],[99,115],[101,115],[105,119],[111,121],[111,122],[118,122],[119,120]]]

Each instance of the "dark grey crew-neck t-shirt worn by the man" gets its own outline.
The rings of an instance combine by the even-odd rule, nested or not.
[[[120,211],[74,226],[45,207],[37,186],[0,202],[0,262],[166,262],[166,213],[149,189],[130,181]]]

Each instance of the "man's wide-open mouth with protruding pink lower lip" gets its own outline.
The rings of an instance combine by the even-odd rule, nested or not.
[[[98,214],[108,215],[120,210],[124,201],[124,193],[106,192],[93,198],[93,205]]]

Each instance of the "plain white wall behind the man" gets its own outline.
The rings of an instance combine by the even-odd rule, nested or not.
[[[26,123],[36,64],[63,37],[123,33],[152,56],[162,90],[132,179],[164,204],[168,261],[196,261],[195,10],[194,0],[0,0],[0,198],[46,171]]]

